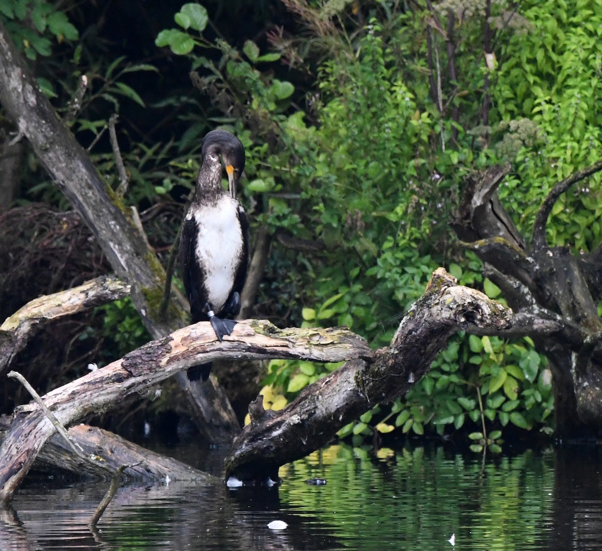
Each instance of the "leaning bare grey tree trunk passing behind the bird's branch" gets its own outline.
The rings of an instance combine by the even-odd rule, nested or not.
[[[93,166],[86,151],[76,142],[45,95],[40,92],[25,60],[17,52],[0,23],[0,104],[25,136],[61,192],[78,210],[101,245],[120,279],[131,285],[132,301],[154,338],[168,335],[188,323],[188,306],[175,287],[166,316],[159,316],[165,285],[165,271],[131,213],[112,193]],[[179,382],[190,390],[184,374]],[[197,385],[188,397],[204,423],[199,429],[215,441],[228,441],[239,427],[225,393],[212,378]],[[201,403],[202,402],[202,403]],[[219,408],[214,405],[219,404]],[[207,429],[218,419],[222,432]]]

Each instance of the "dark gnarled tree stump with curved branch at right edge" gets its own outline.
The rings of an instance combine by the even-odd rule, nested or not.
[[[497,334],[528,335],[548,357],[557,436],[595,436],[602,426],[602,244],[574,254],[568,247],[548,244],[546,226],[560,195],[601,171],[602,161],[550,190],[530,239],[520,234],[498,198],[498,186],[509,170],[493,166],[467,178],[453,228],[483,260],[483,273],[515,312],[513,326]]]

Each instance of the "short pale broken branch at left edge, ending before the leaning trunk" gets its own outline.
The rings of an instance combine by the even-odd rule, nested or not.
[[[0,373],[43,324],[126,297],[129,289],[115,277],[103,276],[25,304],[0,325]]]

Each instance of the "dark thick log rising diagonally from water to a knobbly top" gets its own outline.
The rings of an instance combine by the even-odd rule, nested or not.
[[[281,465],[324,446],[374,405],[405,394],[430,369],[454,332],[472,327],[507,329],[511,320],[511,310],[479,291],[457,286],[455,278],[439,268],[424,296],[404,316],[391,346],[373,357],[347,361],[304,388],[286,408],[252,417],[232,444],[226,477],[276,482]]]

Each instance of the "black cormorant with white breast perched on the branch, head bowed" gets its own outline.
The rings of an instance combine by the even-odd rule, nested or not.
[[[217,339],[230,335],[240,312],[240,292],[247,277],[249,221],[236,198],[244,169],[244,148],[225,130],[213,130],[203,139],[202,162],[194,196],[180,241],[184,288],[192,323],[210,321]],[[229,190],[222,186],[228,175]],[[211,364],[188,370],[190,380],[206,380]]]

